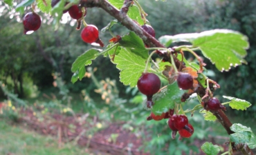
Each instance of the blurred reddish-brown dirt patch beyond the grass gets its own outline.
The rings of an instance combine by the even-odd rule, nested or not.
[[[109,123],[107,127],[90,134],[91,127],[96,127],[97,123],[87,122],[86,114],[75,116],[65,116],[61,114],[36,116],[33,110],[21,110],[19,122],[26,125],[30,130],[35,130],[40,134],[57,136],[58,143],[75,141],[78,145],[88,148],[93,154],[105,155],[153,155],[154,152],[140,151],[143,146],[143,139],[123,130],[123,123]],[[43,120],[43,121],[42,121]],[[93,119],[97,122],[97,118]],[[93,125],[92,125],[93,124]],[[88,133],[89,132],[89,133]],[[215,141],[212,138],[212,141]],[[201,147],[205,141],[194,141],[194,145]],[[228,145],[223,144],[224,150],[228,150]],[[191,155],[194,154],[191,152]],[[196,153],[203,155],[203,152]]]

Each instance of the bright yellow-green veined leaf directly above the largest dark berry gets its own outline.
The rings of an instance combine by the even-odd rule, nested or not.
[[[147,59],[134,54],[129,48],[120,48],[119,54],[116,55],[113,63],[116,63],[116,68],[121,70],[120,81],[124,85],[134,87],[145,70],[146,61]]]

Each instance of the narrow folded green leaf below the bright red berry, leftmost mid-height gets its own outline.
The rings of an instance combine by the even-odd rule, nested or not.
[[[98,57],[98,52],[100,50],[91,48],[84,52],[84,54],[77,57],[75,62],[72,64],[71,71],[74,72],[71,81],[77,81],[77,79],[82,80],[85,74],[85,65],[91,65],[92,60]],[[78,74],[78,76],[77,76]]]

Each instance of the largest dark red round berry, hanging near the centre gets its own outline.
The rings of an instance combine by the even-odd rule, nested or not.
[[[154,73],[143,73],[138,79],[138,90],[145,95],[153,95],[161,87],[161,81]]]

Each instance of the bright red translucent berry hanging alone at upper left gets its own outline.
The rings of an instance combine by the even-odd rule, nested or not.
[[[86,43],[94,43],[99,39],[99,31],[95,25],[87,25],[81,32],[82,40]]]

